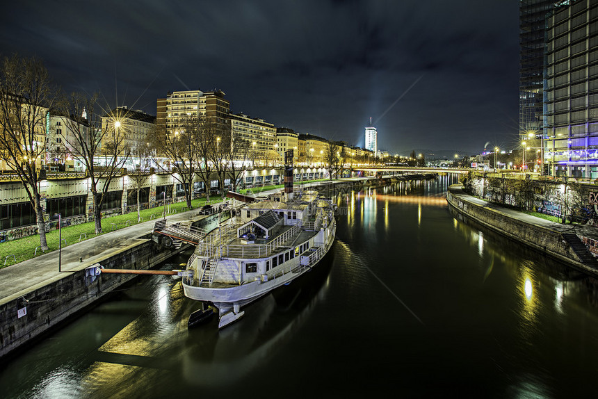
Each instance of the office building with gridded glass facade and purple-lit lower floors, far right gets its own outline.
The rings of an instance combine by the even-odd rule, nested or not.
[[[555,176],[598,178],[598,0],[546,19],[544,157]]]

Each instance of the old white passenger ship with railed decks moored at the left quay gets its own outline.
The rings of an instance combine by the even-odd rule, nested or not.
[[[330,250],[336,234],[330,199],[288,191],[238,206],[234,218],[206,234],[189,259],[193,273],[183,278],[184,293],[213,303],[219,327],[239,320],[245,304],[317,266]]]

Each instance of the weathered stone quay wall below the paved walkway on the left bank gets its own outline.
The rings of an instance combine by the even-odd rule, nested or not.
[[[151,238],[131,239],[110,255],[95,259],[105,268],[149,269],[181,250],[163,250]],[[31,341],[63,320],[90,306],[136,275],[100,275],[92,281],[85,267],[63,272],[0,303],[0,357]]]

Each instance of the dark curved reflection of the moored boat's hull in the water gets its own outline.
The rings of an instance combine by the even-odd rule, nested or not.
[[[325,300],[336,245],[317,268],[246,307],[242,322],[218,334],[191,331],[182,354],[186,382],[221,387],[259,371],[298,332],[316,304]]]

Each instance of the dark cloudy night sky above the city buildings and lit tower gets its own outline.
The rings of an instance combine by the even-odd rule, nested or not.
[[[515,145],[519,1],[13,1],[0,54],[38,56],[63,90],[156,114],[174,90],[391,154]]]

